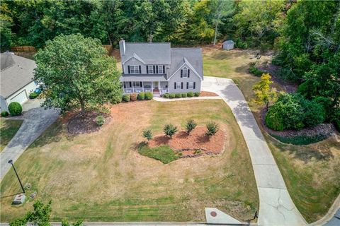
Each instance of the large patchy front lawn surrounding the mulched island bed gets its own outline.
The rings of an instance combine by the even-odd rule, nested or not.
[[[183,128],[216,121],[225,131],[220,155],[164,164],[138,153],[142,131],[162,133],[164,124]],[[214,206],[234,218],[253,218],[259,208],[249,152],[229,107],[222,100],[140,101],[114,105],[99,131],[69,135],[59,120],[17,160],[23,184],[36,198],[52,199],[52,220],[204,221]],[[11,206],[20,191],[13,170],[1,182],[1,221],[31,210],[33,201]]]

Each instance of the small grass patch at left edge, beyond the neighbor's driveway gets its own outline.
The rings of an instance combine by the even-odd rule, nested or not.
[[[9,141],[16,135],[16,131],[18,131],[22,123],[22,120],[0,119],[0,152],[4,150]]]

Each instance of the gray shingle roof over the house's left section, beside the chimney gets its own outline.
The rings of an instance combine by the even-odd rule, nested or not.
[[[120,48],[120,57],[125,62],[137,54],[145,64],[170,64],[170,49],[169,42],[125,42],[125,54]]]

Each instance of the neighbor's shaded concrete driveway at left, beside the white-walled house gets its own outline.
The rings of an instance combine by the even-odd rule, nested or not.
[[[40,107],[42,100],[28,100],[23,104],[23,124],[12,140],[0,153],[0,181],[4,178],[11,165],[8,160],[16,162],[18,157],[59,117],[59,110]]]

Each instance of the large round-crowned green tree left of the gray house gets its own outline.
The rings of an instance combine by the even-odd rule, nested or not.
[[[35,54],[34,80],[44,90],[45,107],[62,111],[101,107],[121,100],[122,90],[115,59],[108,57],[100,40],[80,34],[60,35]]]

